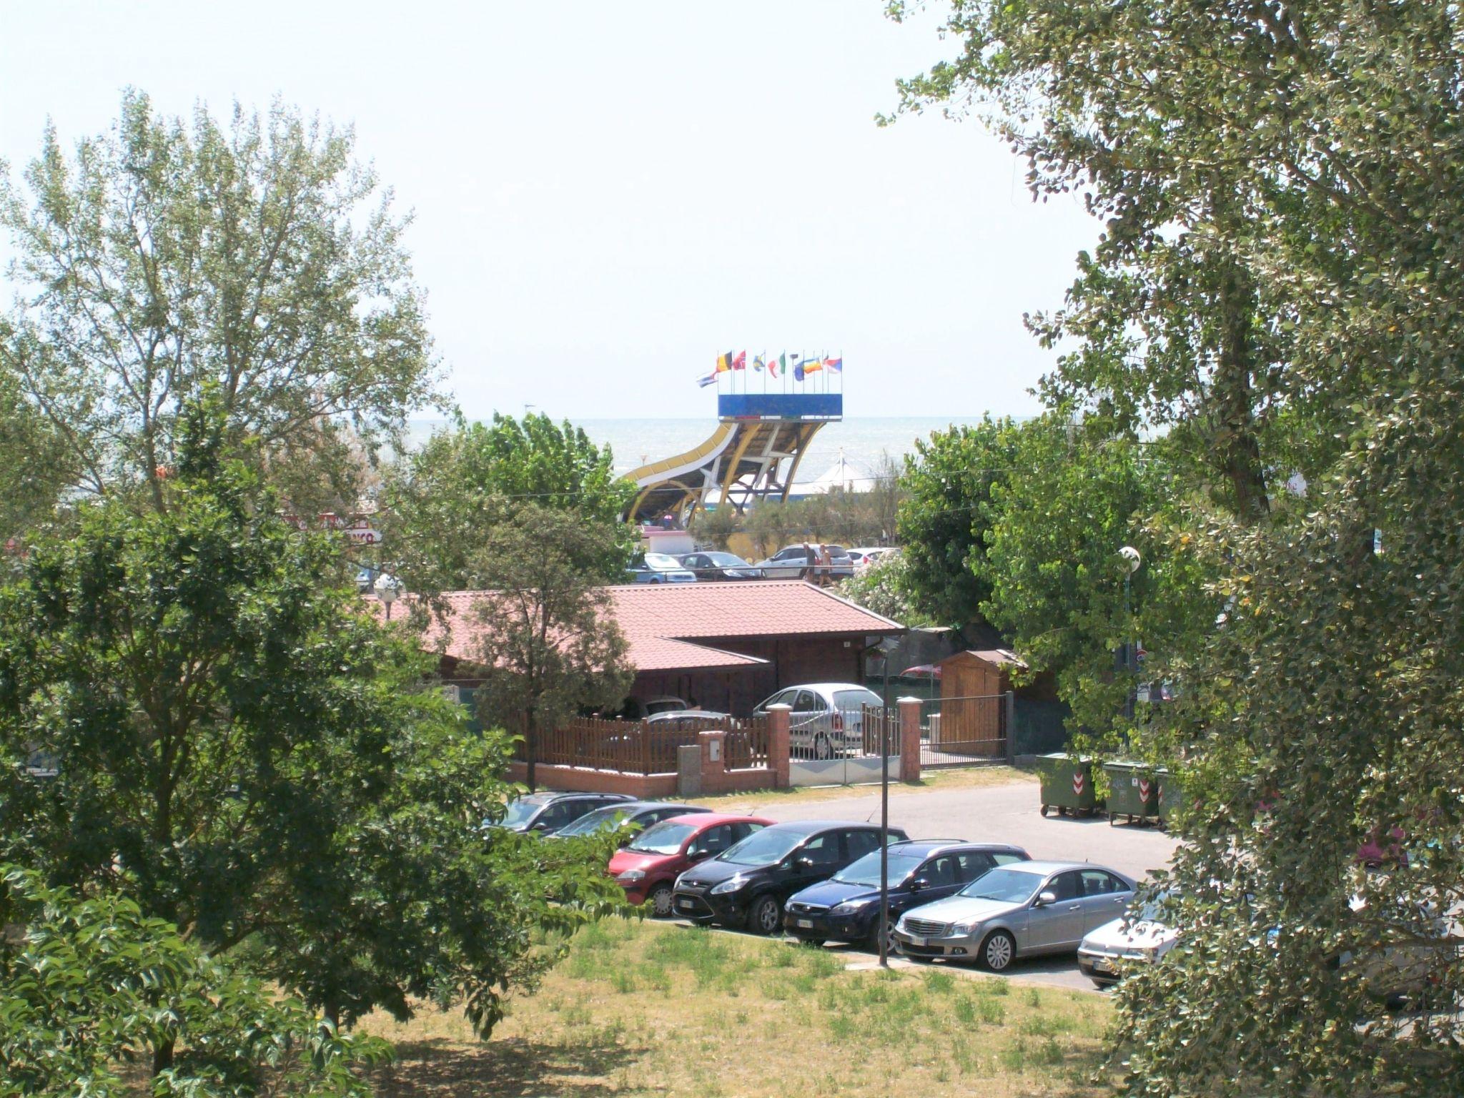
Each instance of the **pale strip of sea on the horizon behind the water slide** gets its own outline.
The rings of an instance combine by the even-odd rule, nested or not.
[[[684,454],[704,442],[717,420],[707,419],[586,419],[571,420],[583,427],[590,441],[609,447],[615,457],[615,471],[632,468]],[[883,464],[884,455],[896,463],[915,449],[915,439],[953,425],[975,425],[978,417],[947,416],[867,416],[827,423],[808,447],[798,467],[798,482],[811,483],[843,461],[851,477],[870,477]],[[442,422],[422,420],[411,425],[413,439],[423,439]]]

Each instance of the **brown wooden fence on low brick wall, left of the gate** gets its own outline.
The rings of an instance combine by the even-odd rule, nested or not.
[[[536,761],[622,774],[673,774],[676,751],[700,744],[701,733],[725,731],[729,770],[767,766],[767,717],[678,717],[675,720],[606,720],[575,717],[539,733]],[[517,758],[524,761],[523,742]]]

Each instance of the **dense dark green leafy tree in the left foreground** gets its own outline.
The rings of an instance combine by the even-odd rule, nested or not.
[[[486,1032],[552,962],[536,934],[622,897],[583,858],[485,836],[507,741],[467,733],[230,435],[192,408],[163,509],[82,507],[0,587],[4,856],[124,890],[332,1023],[430,998]],[[28,776],[37,751],[54,779]]]

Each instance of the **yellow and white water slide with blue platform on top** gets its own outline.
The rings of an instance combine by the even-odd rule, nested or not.
[[[709,505],[741,514],[754,499],[788,499],[814,435],[842,419],[842,392],[720,394],[706,442],[627,473],[637,489],[627,517],[650,523],[672,514],[685,524]]]

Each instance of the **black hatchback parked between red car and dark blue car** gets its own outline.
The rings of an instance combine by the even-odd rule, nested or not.
[[[906,839],[899,827],[892,827],[890,836]],[[694,922],[773,934],[783,925],[783,902],[789,896],[878,849],[875,824],[836,820],[773,824],[681,874],[672,911]]]

